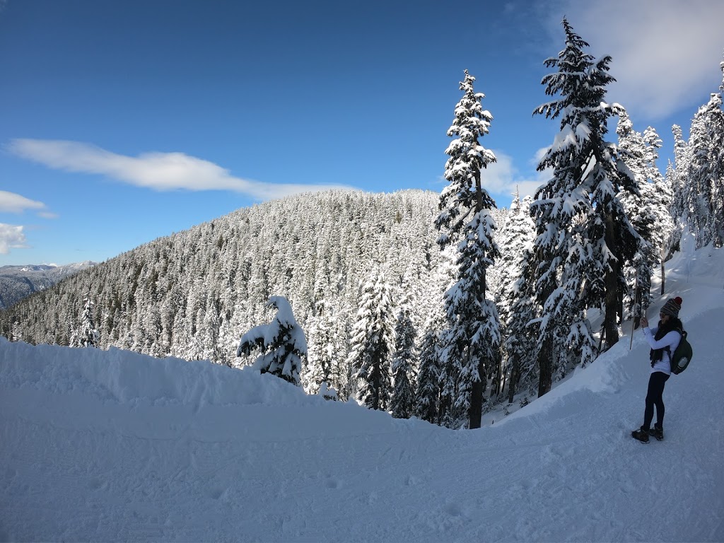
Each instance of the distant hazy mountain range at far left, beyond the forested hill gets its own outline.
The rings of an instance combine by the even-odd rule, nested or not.
[[[61,279],[95,265],[96,262],[85,261],[64,266],[0,266],[0,309],[9,308],[33,292],[52,287]]]

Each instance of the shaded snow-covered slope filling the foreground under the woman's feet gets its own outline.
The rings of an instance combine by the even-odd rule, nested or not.
[[[724,253],[687,254],[667,290],[695,358],[648,445],[630,432],[649,349],[628,326],[468,432],[251,369],[0,340],[0,540],[723,541]]]

